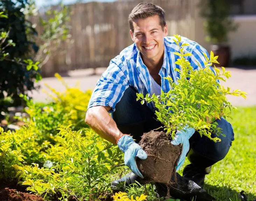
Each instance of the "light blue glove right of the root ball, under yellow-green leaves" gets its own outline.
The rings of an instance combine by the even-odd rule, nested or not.
[[[189,139],[194,134],[195,129],[186,127],[184,131],[177,131],[175,138],[171,141],[173,145],[183,144],[182,154],[180,155],[178,165],[176,166],[176,172],[181,168],[185,161],[187,152],[189,151]]]

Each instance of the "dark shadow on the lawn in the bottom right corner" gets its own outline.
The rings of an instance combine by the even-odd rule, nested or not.
[[[212,195],[217,201],[246,201],[241,200],[240,192],[236,192],[229,187],[219,187],[205,184],[204,189]],[[256,196],[251,194],[250,192],[244,192],[247,197],[247,201],[254,201]]]

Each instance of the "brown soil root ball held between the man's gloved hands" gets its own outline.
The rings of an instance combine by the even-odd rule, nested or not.
[[[148,155],[145,160],[137,159],[138,169],[144,176],[143,181],[172,184],[171,178],[173,174],[176,176],[175,167],[182,147],[173,146],[169,137],[159,131],[144,133],[139,144]]]

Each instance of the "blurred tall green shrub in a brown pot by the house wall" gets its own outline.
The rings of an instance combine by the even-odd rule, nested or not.
[[[200,15],[205,18],[204,27],[208,34],[205,40],[212,44],[214,55],[219,56],[216,66],[227,67],[231,54],[227,44],[228,33],[237,28],[229,17],[230,4],[223,0],[201,0],[199,8]]]

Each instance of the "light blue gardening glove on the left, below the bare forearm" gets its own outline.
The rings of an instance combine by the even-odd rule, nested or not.
[[[130,135],[123,135],[118,140],[118,147],[125,153],[125,165],[137,176],[143,178],[141,172],[138,170],[136,164],[136,157],[146,159],[148,156],[146,152],[138,145]]]

